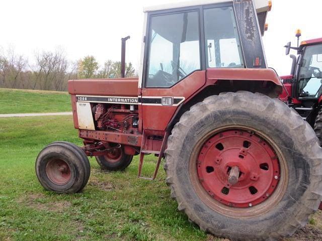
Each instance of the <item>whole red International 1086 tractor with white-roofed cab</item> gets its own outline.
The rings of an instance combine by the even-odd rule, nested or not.
[[[36,160],[43,187],[81,190],[87,156],[121,170],[138,155],[138,177],[151,180],[165,158],[171,197],[202,230],[276,240],[305,225],[320,204],[322,149],[277,99],[283,86],[262,43],[270,8],[202,0],[145,9],[139,78],[68,82],[84,146],[45,147]],[[146,154],[158,157],[151,177],[141,176]]]

